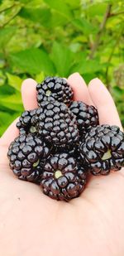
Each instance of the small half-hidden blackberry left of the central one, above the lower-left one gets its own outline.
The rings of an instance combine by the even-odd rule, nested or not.
[[[21,114],[19,121],[17,122],[17,128],[20,130],[20,134],[33,133],[36,134],[36,109],[26,110]]]

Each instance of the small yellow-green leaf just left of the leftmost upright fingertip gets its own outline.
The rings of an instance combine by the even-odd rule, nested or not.
[[[11,75],[9,73],[6,73],[6,75],[7,75],[8,84],[11,85],[13,88],[17,89],[18,91],[20,91],[21,83],[22,83],[21,78],[17,75]]]

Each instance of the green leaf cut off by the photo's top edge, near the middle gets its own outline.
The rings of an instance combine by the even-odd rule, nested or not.
[[[73,14],[70,11],[69,6],[63,0],[44,0],[51,9],[54,9],[56,12],[59,12],[61,15],[66,17],[68,20],[73,18]]]

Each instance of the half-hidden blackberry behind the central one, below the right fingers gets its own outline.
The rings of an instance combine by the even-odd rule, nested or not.
[[[84,104],[82,101],[73,101],[69,109],[76,116],[81,137],[90,128],[98,125],[98,110],[95,107]]]

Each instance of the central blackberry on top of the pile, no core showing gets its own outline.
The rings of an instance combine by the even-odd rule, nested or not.
[[[55,147],[79,141],[76,118],[64,103],[43,101],[36,111],[36,122],[39,136]]]

